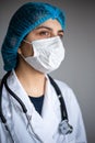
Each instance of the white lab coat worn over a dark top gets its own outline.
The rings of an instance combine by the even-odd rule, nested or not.
[[[8,78],[8,85],[24,102],[32,124],[28,124],[20,103],[3,87],[2,110],[15,143],[86,143],[81,110],[73,91],[63,82],[56,80],[67,106],[69,123],[73,132],[62,135],[58,131],[61,121],[60,102],[48,77],[41,116],[35,110],[27,94],[19,81],[14,70]],[[35,135],[36,134],[36,135]],[[40,141],[39,141],[39,140]],[[12,143],[10,134],[0,121],[0,143]]]

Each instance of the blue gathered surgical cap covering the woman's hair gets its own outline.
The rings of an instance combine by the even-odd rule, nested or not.
[[[9,72],[15,68],[17,63],[17,48],[23,38],[36,26],[49,19],[57,19],[64,31],[64,12],[49,3],[27,2],[14,13],[1,47],[4,70]]]

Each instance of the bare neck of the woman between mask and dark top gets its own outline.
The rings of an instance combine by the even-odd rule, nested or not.
[[[39,97],[45,94],[45,74],[32,68],[24,59],[20,59],[15,74],[28,96]]]

